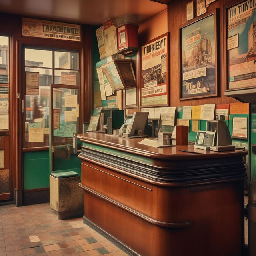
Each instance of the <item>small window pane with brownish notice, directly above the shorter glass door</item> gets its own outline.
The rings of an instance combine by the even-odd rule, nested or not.
[[[55,84],[78,85],[79,72],[74,70],[54,70]]]

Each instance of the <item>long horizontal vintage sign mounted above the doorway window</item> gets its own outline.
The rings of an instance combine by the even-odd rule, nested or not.
[[[22,36],[81,42],[81,26],[49,20],[22,18]]]

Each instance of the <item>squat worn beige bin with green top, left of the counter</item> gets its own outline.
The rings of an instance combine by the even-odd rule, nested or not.
[[[84,193],[78,184],[77,172],[56,172],[50,174],[50,208],[58,220],[76,218],[84,214]]]

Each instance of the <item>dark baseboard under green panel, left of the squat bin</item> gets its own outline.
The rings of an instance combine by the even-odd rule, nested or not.
[[[50,202],[49,188],[34,188],[23,191],[23,205],[42,204]]]

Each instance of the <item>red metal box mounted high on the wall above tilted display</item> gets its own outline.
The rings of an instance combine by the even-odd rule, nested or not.
[[[138,28],[133,23],[122,24],[116,28],[118,53],[130,54],[138,51]]]

